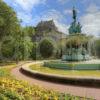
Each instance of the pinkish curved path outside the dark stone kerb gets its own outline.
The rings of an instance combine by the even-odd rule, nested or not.
[[[72,94],[75,96],[91,97],[96,100],[100,100],[100,89],[98,88],[90,88],[90,87],[88,88],[88,87],[47,82],[47,81],[26,76],[19,71],[22,66],[25,67],[31,64],[36,64],[36,63],[41,63],[41,62],[28,62],[22,65],[19,65],[18,67],[12,69],[11,74],[15,76],[16,79],[27,81],[31,85],[35,84],[46,89],[53,89],[55,91],[66,92],[67,94]]]

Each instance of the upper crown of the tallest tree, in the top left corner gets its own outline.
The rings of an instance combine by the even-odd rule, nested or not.
[[[19,20],[14,10],[0,0],[0,41],[4,36],[18,33]]]

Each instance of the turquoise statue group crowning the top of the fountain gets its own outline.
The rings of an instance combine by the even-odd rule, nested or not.
[[[80,22],[77,22],[77,11],[76,9],[73,7],[73,22],[71,23],[71,26],[69,28],[69,34],[73,35],[73,34],[79,34],[81,33],[81,24]]]

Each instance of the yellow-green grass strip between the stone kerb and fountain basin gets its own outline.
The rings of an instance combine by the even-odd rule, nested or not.
[[[53,69],[48,67],[43,67],[42,65],[31,65],[30,68],[32,70],[37,70],[44,73],[51,73],[51,74],[60,74],[60,75],[66,75],[66,76],[89,76],[89,77],[100,77],[100,71],[99,70],[62,70],[62,69]]]

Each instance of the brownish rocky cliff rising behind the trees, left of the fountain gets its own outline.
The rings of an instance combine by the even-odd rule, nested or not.
[[[35,35],[33,36],[33,40],[40,41],[44,38],[53,39],[55,41],[59,41],[62,37],[66,35],[59,32],[54,21],[41,21],[35,27]]]

